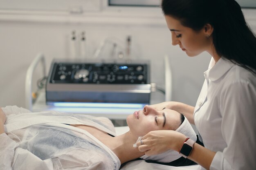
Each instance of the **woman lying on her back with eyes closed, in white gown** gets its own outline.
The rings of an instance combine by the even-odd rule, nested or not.
[[[177,130],[196,140],[183,115],[150,106],[129,115],[130,130],[119,136],[115,136],[110,119],[84,114],[31,113],[7,106],[0,108],[0,121],[4,123],[0,127],[4,128],[0,135],[1,170],[119,170],[122,163],[137,158],[167,163],[181,155],[169,150],[146,156],[133,144],[152,130]]]

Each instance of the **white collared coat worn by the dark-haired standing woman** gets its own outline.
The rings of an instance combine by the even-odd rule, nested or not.
[[[256,77],[213,58],[194,110],[204,146],[216,153],[210,170],[256,169]]]

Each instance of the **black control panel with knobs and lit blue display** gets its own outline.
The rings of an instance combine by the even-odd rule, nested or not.
[[[148,64],[55,62],[52,84],[149,84]]]

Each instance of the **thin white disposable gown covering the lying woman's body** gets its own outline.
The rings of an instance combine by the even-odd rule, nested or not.
[[[115,135],[105,117],[2,108],[6,133],[0,135],[1,170],[119,170],[118,157],[89,132],[67,124],[94,126]],[[20,114],[22,113],[22,114]]]

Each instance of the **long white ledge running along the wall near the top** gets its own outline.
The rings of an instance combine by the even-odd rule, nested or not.
[[[166,22],[159,10],[139,13],[137,10],[111,10],[72,14],[62,11],[18,11],[0,10],[0,21],[12,22],[44,22],[44,23],[73,23],[73,24],[132,24],[160,25]]]

